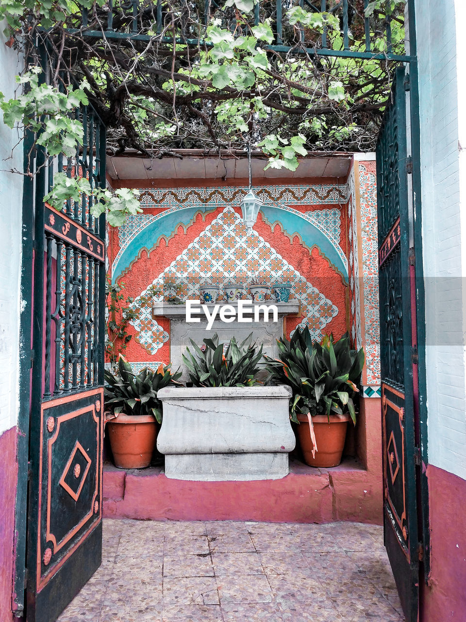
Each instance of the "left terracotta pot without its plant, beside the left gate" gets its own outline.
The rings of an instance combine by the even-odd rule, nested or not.
[[[150,465],[158,423],[152,415],[124,415],[107,422],[115,466],[144,468]]]

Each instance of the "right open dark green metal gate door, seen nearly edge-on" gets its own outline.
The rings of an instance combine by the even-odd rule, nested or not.
[[[414,622],[419,598],[415,465],[419,450],[415,442],[418,411],[412,322],[416,312],[411,310],[404,83],[404,68],[398,68],[377,143],[380,365],[385,546],[404,615]]]

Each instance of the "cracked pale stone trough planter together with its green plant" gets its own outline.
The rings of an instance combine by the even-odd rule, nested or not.
[[[219,343],[215,334],[183,355],[190,386],[158,391],[163,423],[157,448],[165,475],[180,480],[239,481],[288,475],[295,435],[291,390],[257,380],[262,347],[249,335]]]

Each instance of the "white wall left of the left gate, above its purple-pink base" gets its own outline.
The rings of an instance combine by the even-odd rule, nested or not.
[[[0,30],[4,25],[0,23]],[[17,53],[4,45],[0,34],[0,91],[14,95]],[[22,148],[14,151],[18,133],[2,123],[0,113],[0,434],[17,422],[19,371],[19,283],[21,268]]]

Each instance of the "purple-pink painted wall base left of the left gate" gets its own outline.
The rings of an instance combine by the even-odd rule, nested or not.
[[[16,427],[0,436],[0,620],[17,620],[11,613],[16,499]]]

